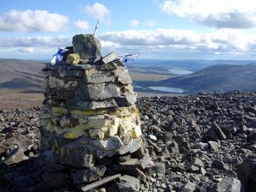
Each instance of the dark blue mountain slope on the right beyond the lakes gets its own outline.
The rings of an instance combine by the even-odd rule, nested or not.
[[[189,93],[229,92],[237,89],[256,92],[256,65],[208,66],[189,75],[158,81],[155,86],[176,87]]]

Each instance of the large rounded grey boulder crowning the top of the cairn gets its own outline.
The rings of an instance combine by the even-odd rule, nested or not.
[[[101,42],[93,35],[75,35],[72,44],[81,59],[97,61],[101,58]]]

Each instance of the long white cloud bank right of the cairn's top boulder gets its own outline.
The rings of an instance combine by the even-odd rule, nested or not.
[[[191,30],[127,30],[118,32],[104,32],[99,36],[104,41],[111,41],[121,47],[168,51],[179,49],[186,54],[201,52],[201,54],[254,52],[256,35],[240,30],[216,30],[215,32],[195,32]]]

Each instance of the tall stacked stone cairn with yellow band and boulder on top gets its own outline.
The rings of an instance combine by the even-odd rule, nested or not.
[[[61,61],[42,69],[47,75],[40,143],[44,182],[81,191],[104,183],[138,191],[150,157],[127,68],[115,52],[102,57],[93,35],[75,35],[66,49]]]

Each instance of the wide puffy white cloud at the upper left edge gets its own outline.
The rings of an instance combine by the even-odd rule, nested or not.
[[[69,18],[47,10],[10,10],[0,17],[0,30],[10,32],[58,32]]]

